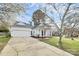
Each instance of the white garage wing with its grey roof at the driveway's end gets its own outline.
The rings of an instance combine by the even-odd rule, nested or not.
[[[28,37],[31,36],[31,26],[23,22],[16,22],[11,28],[12,37]]]

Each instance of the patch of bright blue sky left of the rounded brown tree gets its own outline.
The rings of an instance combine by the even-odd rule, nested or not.
[[[38,4],[25,4],[25,12],[18,17],[19,20],[26,23],[32,21],[33,12],[36,11],[38,7]]]

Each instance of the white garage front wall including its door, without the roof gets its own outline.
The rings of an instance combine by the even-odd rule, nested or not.
[[[31,36],[31,29],[29,28],[19,28],[19,27],[12,27],[10,29],[12,37],[28,37]]]

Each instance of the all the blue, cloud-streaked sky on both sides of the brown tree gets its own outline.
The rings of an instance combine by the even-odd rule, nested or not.
[[[25,4],[24,7],[25,7],[25,12],[23,14],[21,14],[18,19],[22,22],[26,22],[28,23],[29,21],[32,21],[32,15],[33,15],[33,12],[35,12],[37,9],[43,9],[44,10],[44,7],[46,5],[43,4],[43,3],[28,3],[28,4]],[[47,13],[47,15],[49,17],[51,17],[52,19],[54,19],[55,22],[60,22],[59,20],[59,15],[54,12],[53,14],[51,14],[50,10],[52,9],[50,6],[47,7],[49,9]],[[62,10],[62,7],[60,6],[60,11],[61,13],[63,13],[63,10]],[[52,9],[53,10],[53,9]]]

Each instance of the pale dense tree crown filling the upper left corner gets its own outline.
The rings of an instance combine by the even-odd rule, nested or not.
[[[22,4],[0,4],[0,21],[5,27],[10,27],[11,23],[14,23],[18,14],[23,12]]]

